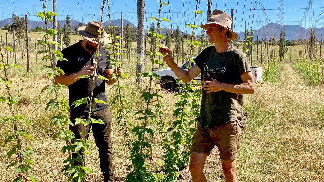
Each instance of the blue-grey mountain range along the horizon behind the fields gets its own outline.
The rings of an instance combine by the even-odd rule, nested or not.
[[[111,20],[112,26],[120,26],[120,19],[117,20]],[[65,20],[57,20],[61,24],[61,27],[64,26]],[[0,20],[0,26],[3,27],[6,24],[12,24],[12,18],[7,18],[4,20]],[[70,25],[72,27],[72,30],[75,29],[75,27],[78,26],[78,24],[81,23],[76,20],[70,20]],[[126,19],[123,19],[123,26],[127,26],[129,24],[132,27],[136,27],[133,23],[129,22]],[[103,23],[105,27],[109,25],[109,21],[106,21]],[[53,27],[53,23],[48,24],[49,27]],[[33,20],[28,20],[28,27],[29,29],[34,29],[36,27],[45,27],[45,21],[33,21]],[[305,29],[299,25],[280,25],[277,23],[268,23],[267,25],[261,27],[258,30],[253,30],[253,40],[258,39],[265,39],[269,40],[270,38],[275,38],[277,41],[279,41],[279,36],[281,31],[285,32],[285,39],[286,40],[298,40],[298,39],[309,39],[310,36],[310,29]],[[171,31],[171,30],[170,30]],[[315,37],[318,38],[318,41],[320,40],[320,34],[324,32],[324,28],[314,28],[315,31]],[[147,30],[145,30],[145,33],[147,33]],[[165,35],[166,34],[166,28],[161,29],[161,34]],[[180,32],[181,34],[181,32]],[[238,33],[238,36],[240,40],[244,40],[244,32]]]

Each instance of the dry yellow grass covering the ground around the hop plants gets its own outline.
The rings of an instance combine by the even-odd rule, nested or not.
[[[39,70],[39,67],[40,65],[35,65],[36,70]],[[126,64],[124,69],[131,78],[123,84],[128,87],[127,96],[131,100],[131,108],[137,111],[143,102],[135,89],[135,64]],[[149,65],[146,69],[149,69]],[[13,93],[21,100],[15,107],[16,113],[25,115],[34,123],[33,127],[21,125],[35,138],[34,142],[29,142],[35,150],[32,174],[39,181],[66,181],[60,172],[62,161],[66,158],[60,151],[64,144],[61,140],[52,139],[56,129],[50,126],[49,118],[53,114],[44,110],[50,96],[40,94],[41,88],[49,84],[50,80],[39,71],[28,74],[24,73],[24,70],[13,71],[9,76],[14,85]],[[170,124],[174,120],[173,106],[177,98],[173,93],[162,92],[159,85],[156,86],[155,89],[163,96],[165,119]],[[110,88],[111,86],[107,86],[106,89],[109,101],[115,94]],[[0,87],[0,93],[2,96],[6,95],[4,87]],[[64,90],[61,97],[67,98],[67,90]],[[237,164],[239,180],[321,181],[324,178],[323,98],[324,86],[305,86],[289,64],[284,65],[278,83],[257,84],[256,93],[245,96],[247,118]],[[117,106],[110,106],[110,109],[115,118]],[[8,112],[7,106],[0,104],[0,118]],[[154,129],[155,136],[152,140],[152,158],[148,162],[155,171],[163,166],[164,151],[156,124],[151,122],[149,127]],[[115,176],[117,181],[124,181],[128,173],[127,166],[130,164],[129,148],[125,146],[122,132],[118,130],[119,127],[114,122],[112,144]],[[1,144],[11,131],[10,123],[2,124]],[[89,175],[87,181],[101,181],[98,152],[92,136],[90,141],[91,154],[86,156],[86,163],[94,169],[94,173]],[[11,170],[5,170],[9,164],[6,157],[9,146],[0,148],[0,181],[5,182],[13,179]],[[208,157],[205,172],[208,181],[224,181],[217,149]],[[180,171],[179,181],[190,181],[188,169]]]

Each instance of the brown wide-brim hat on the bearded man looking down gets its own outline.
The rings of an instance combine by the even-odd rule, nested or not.
[[[101,29],[103,32],[100,34],[98,30]],[[89,40],[90,42],[104,45],[111,43],[111,36],[104,32],[103,25],[100,22],[90,21],[87,26],[79,27],[78,33],[85,39]]]

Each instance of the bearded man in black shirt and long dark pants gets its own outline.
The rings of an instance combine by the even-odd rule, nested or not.
[[[108,108],[108,104],[95,103],[95,98],[107,101],[105,95],[105,83],[112,85],[116,80],[110,78],[110,75],[114,73],[109,62],[108,51],[106,51],[101,45],[110,43],[108,34],[104,31],[101,32],[100,39],[98,39],[98,30],[103,31],[103,26],[99,22],[90,21],[87,26],[79,27],[78,33],[84,38],[83,40],[65,48],[62,54],[68,61],[59,61],[57,67],[60,67],[64,74],[55,77],[56,83],[67,85],[69,87],[69,105],[70,105],[70,120],[75,122],[76,118],[86,118],[88,116],[89,106],[88,104],[82,104],[80,106],[72,106],[72,103],[76,100],[90,97],[92,90],[92,79],[82,78],[80,76],[88,75],[94,76],[101,75],[108,80],[102,80],[95,78],[95,88],[93,91],[93,111],[91,117],[94,119],[101,119],[105,124],[91,124],[93,136],[96,142],[96,146],[99,151],[100,168],[103,173],[104,181],[113,181],[113,165],[112,165],[112,150],[110,141],[111,131],[111,116]],[[97,45],[99,44],[99,50]],[[94,53],[98,51],[99,55],[97,60],[97,69],[94,72]],[[123,71],[117,68],[117,73],[120,75]],[[69,125],[69,129],[74,132],[76,139],[86,140],[86,136],[89,135],[90,127],[82,124],[75,126]],[[77,155],[73,155],[77,158]],[[83,160],[84,157],[82,156]],[[74,164],[79,165],[80,162]]]

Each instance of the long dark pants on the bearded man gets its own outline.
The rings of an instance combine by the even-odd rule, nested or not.
[[[74,123],[74,119],[76,118],[86,118],[87,115],[80,115],[70,113],[70,120]],[[112,149],[111,149],[111,140],[110,140],[110,132],[111,132],[111,115],[109,108],[105,108],[99,111],[95,111],[91,114],[91,117],[94,119],[101,119],[105,124],[91,124],[93,137],[96,142],[96,146],[99,151],[99,159],[100,159],[100,168],[101,172],[104,176],[104,181],[113,181],[113,172],[114,167],[112,165]],[[77,124],[76,126],[69,125],[69,129],[74,133],[76,139],[86,139],[86,136],[90,132],[90,127],[87,130],[85,125]],[[77,157],[77,154],[73,155],[74,158]],[[82,159],[85,163],[84,156]],[[80,165],[78,163],[77,165]]]

